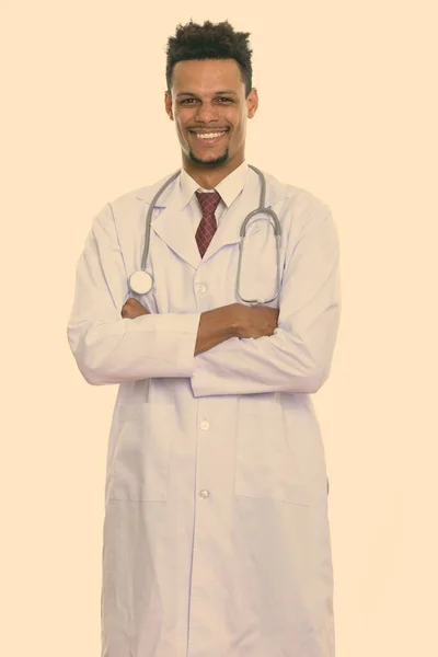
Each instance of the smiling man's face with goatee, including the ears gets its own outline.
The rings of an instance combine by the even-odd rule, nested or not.
[[[173,69],[165,110],[176,124],[183,161],[201,168],[232,165],[244,160],[247,117],[257,110],[257,92],[245,99],[234,59],[191,59]]]

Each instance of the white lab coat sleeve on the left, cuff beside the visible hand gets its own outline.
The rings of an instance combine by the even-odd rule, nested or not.
[[[68,341],[84,379],[103,385],[191,377],[199,313],[123,319],[130,297],[111,206],[94,219],[79,260]]]

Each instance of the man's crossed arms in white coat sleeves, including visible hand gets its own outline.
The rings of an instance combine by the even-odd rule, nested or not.
[[[289,254],[279,312],[233,303],[200,314],[150,314],[135,299],[125,302],[126,279],[103,210],[78,265],[68,327],[90,383],[182,377],[195,396],[309,393],[330,373],[341,301],[337,233],[326,210],[307,222]]]

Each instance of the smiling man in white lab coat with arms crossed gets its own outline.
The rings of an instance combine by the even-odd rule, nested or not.
[[[87,381],[119,384],[103,657],[334,655],[325,461],[309,395],[335,346],[338,241],[327,206],[266,175],[279,268],[266,215],[249,221],[239,265],[261,193],[244,159],[258,102],[247,37],[228,22],[177,27],[165,111],[182,169],[151,208],[147,264],[146,215],[165,181],[106,205],[78,264],[71,349]],[[141,269],[153,287],[135,293]]]

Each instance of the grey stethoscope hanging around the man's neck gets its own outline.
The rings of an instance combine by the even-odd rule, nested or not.
[[[250,303],[253,306],[262,306],[264,303],[270,303],[272,301],[275,301],[275,299],[277,299],[279,291],[280,291],[280,285],[281,285],[281,272],[280,272],[281,226],[280,226],[278,217],[274,212],[274,210],[265,207],[266,178],[265,178],[264,174],[262,173],[262,171],[260,171],[252,164],[249,164],[249,166],[253,171],[255,171],[255,173],[258,175],[260,183],[261,183],[261,195],[260,195],[258,208],[256,208],[255,210],[253,210],[245,217],[245,219],[243,220],[243,223],[241,226],[241,229],[240,229],[240,247],[239,247],[238,278],[237,278],[237,283],[235,283],[235,295],[239,298],[239,300],[244,303]],[[129,289],[137,295],[147,295],[153,287],[153,274],[151,274],[150,272],[147,272],[147,269],[146,269],[147,262],[148,262],[148,254],[149,254],[150,231],[151,231],[153,208],[155,206],[157,200],[161,196],[161,194],[180,175],[180,173],[181,173],[180,170],[175,171],[175,173],[173,173],[171,175],[171,177],[168,181],[165,181],[164,185],[162,185],[162,187],[160,187],[160,189],[157,192],[155,196],[153,197],[153,199],[149,206],[148,214],[146,217],[145,246],[143,246],[143,253],[142,253],[142,257],[141,257],[141,269],[134,272],[134,274],[131,274],[129,276]],[[241,270],[242,270],[244,240],[246,237],[246,226],[253,217],[255,217],[256,215],[262,215],[262,214],[267,215],[267,217],[269,218],[269,223],[273,227],[274,235],[275,235],[275,240],[276,240],[276,255],[277,255],[276,295],[272,299],[244,299],[240,293],[240,278],[241,278]],[[257,221],[258,221],[258,219],[257,219]]]

